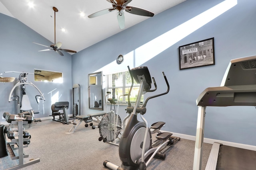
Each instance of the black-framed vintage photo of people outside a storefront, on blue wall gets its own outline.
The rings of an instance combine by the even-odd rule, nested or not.
[[[180,70],[215,65],[214,37],[179,47]]]

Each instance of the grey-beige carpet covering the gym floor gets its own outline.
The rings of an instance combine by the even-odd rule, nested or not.
[[[121,165],[118,146],[98,141],[99,130],[84,127],[84,122],[75,133],[66,135],[72,124],[44,120],[33,124],[32,128],[25,125],[25,130],[32,135],[31,142],[24,153],[29,154],[24,162],[40,158],[40,162],[21,168],[20,170],[108,170],[103,166],[104,160]],[[152,160],[148,170],[192,170],[195,142],[180,139],[166,152],[165,160]],[[205,169],[212,145],[204,143],[202,169]],[[18,160],[10,156],[0,158],[0,170],[18,165]]]

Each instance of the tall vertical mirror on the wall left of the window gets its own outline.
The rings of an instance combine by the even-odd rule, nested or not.
[[[89,108],[103,110],[102,72],[88,74]]]

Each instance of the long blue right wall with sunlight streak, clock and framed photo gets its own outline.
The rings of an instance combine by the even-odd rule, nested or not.
[[[210,19],[222,11],[219,9],[222,4],[223,14]],[[150,124],[166,121],[166,131],[195,136],[199,94],[205,88],[220,86],[231,59],[256,55],[255,7],[254,0],[187,0],[72,55],[72,80],[82,88],[82,113],[96,112],[88,109],[89,73],[108,74],[125,70],[128,65],[148,66],[151,76],[156,78],[156,93],[166,89],[162,71],[171,90],[148,102],[145,118]],[[214,11],[206,17],[209,9]],[[204,23],[206,20],[209,22]],[[164,37],[161,41],[160,35]],[[179,70],[178,47],[211,37],[215,43],[215,65]],[[115,60],[120,54],[124,55],[124,63],[117,65]],[[121,118],[126,114],[124,108],[119,111]],[[256,145],[256,137],[252,135],[256,131],[255,121],[254,106],[207,107],[205,137]]]

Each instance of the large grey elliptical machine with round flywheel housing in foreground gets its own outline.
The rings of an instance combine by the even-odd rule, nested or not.
[[[152,81],[150,73],[146,66],[136,67],[131,70],[128,66],[128,69],[134,80],[136,80],[136,82],[140,84],[140,89],[134,107],[127,107],[127,111],[132,113],[130,115],[129,121],[126,124],[119,143],[118,151],[120,160],[122,161],[122,165],[116,166],[108,160],[105,160],[103,165],[112,170],[146,170],[146,167],[153,158],[165,159],[165,154],[161,151],[166,148],[167,145],[173,145],[176,141],[180,140],[180,138],[171,137],[172,133],[168,132],[158,133],[156,135],[156,139],[162,141],[162,144],[160,146],[158,145],[157,147],[152,146],[152,136],[150,128],[146,119],[143,117],[143,115],[146,113],[146,104],[148,100],[152,98],[167,94],[170,90],[170,86],[164,72],[162,72],[167,85],[167,91],[148,97],[142,107],[140,107],[140,100],[142,98],[142,94],[146,92],[154,92],[157,88],[156,82],[152,77],[155,89],[150,90]],[[138,121],[138,113],[140,113],[140,117],[143,121]],[[163,123],[160,123],[160,128],[162,127]],[[159,127],[155,127],[153,129],[160,129]],[[148,158],[149,156],[150,158]],[[147,161],[145,159],[147,159]]]

